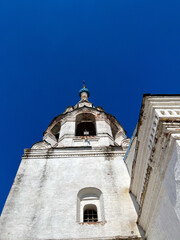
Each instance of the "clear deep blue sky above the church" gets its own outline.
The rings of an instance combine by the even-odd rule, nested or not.
[[[0,1],[0,211],[24,148],[79,101],[130,137],[143,93],[179,93],[180,1]]]

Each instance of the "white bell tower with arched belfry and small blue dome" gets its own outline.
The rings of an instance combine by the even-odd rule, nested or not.
[[[24,150],[1,215],[1,240],[142,239],[118,120],[79,91],[43,140]]]

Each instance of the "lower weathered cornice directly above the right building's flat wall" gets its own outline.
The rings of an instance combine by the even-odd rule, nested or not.
[[[180,122],[159,121],[155,142],[147,162],[139,204],[138,221],[140,224],[143,222],[146,225],[146,230],[150,228],[149,226],[153,222],[156,207],[161,198],[161,183],[176,140],[180,140]],[[147,216],[146,219],[142,215]]]

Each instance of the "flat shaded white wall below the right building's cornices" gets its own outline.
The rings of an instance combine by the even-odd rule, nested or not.
[[[180,239],[180,141],[173,154],[162,183],[162,196],[157,214],[148,233],[148,240]],[[167,157],[167,156],[166,156]]]

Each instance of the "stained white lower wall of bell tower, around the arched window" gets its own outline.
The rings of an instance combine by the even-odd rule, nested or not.
[[[1,216],[0,239],[139,236],[129,183],[123,155],[24,158]],[[102,191],[105,222],[76,221],[77,194],[85,187]]]

